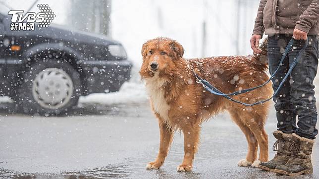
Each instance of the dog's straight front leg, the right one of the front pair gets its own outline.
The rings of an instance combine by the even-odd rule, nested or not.
[[[178,172],[191,171],[193,168],[194,155],[198,149],[200,127],[197,124],[182,127],[184,134],[184,160],[177,167]]]

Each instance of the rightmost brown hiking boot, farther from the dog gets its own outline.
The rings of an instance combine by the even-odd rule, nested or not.
[[[292,134],[291,140],[295,141],[290,147],[291,158],[285,165],[277,166],[274,170],[279,175],[296,176],[300,174],[312,174],[313,164],[311,163],[311,153],[315,140],[300,137]]]

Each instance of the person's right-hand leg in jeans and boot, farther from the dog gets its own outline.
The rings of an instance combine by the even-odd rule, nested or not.
[[[274,172],[281,175],[296,176],[313,173],[311,154],[314,138],[318,134],[316,129],[317,108],[315,99],[314,78],[318,67],[318,39],[317,36],[309,36],[309,44],[297,65],[293,69],[289,80],[291,86],[291,103],[298,115],[298,129],[295,134],[289,136],[291,145],[291,157],[284,165],[275,167]],[[295,60],[306,41],[295,41],[292,50],[289,51],[289,64]]]

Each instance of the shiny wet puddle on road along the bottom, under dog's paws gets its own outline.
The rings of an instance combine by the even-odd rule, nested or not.
[[[174,162],[173,162],[174,161]],[[271,172],[248,167],[238,168],[235,165],[228,166],[227,169],[221,166],[228,164],[224,161],[201,161],[197,163],[192,172],[176,172],[179,164],[177,159],[167,161],[160,170],[145,170],[141,158],[127,160],[126,163],[110,164],[105,167],[83,169],[80,171],[68,171],[57,173],[19,173],[0,168],[0,179],[313,179],[315,175],[286,177],[276,176]]]

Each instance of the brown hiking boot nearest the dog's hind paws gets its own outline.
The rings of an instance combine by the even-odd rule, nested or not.
[[[274,171],[275,167],[279,165],[285,165],[291,157],[289,151],[290,146],[293,144],[289,139],[292,134],[284,134],[281,131],[275,131],[272,133],[277,141],[273,144],[272,150],[277,151],[272,160],[268,162],[261,162],[258,167],[265,171]]]

